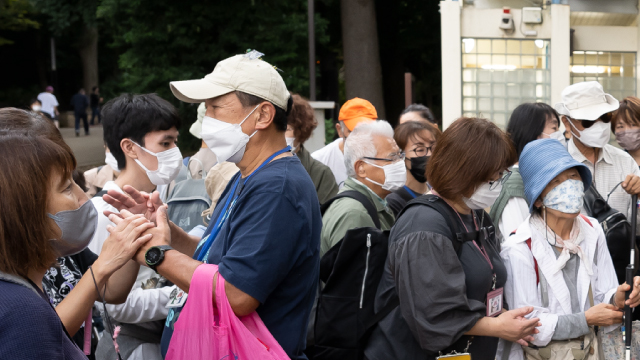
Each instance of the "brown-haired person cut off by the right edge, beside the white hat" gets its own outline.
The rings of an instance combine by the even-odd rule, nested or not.
[[[618,144],[640,166],[640,99],[629,96],[620,101],[620,107],[611,118],[611,129]]]

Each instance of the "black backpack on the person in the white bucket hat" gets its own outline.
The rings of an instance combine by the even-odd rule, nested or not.
[[[617,188],[614,187],[611,193]],[[607,200],[611,193],[607,196]],[[607,203],[592,184],[584,193],[584,209],[589,216],[598,220],[607,238],[607,247],[616,270],[618,284],[626,281],[625,269],[629,264],[629,235],[631,224],[627,217]],[[637,240],[636,240],[637,241]]]

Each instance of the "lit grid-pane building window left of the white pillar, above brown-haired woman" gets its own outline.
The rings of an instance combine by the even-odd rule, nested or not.
[[[551,101],[549,40],[462,39],[462,113],[505,129],[524,102]]]

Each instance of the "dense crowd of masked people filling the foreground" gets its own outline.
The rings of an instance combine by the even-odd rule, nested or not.
[[[625,282],[633,251],[592,202],[636,220],[638,98],[573,84],[506,132],[441,131],[419,104],[394,129],[354,98],[310,152],[313,109],[255,51],[169,86],[199,104],[200,150],[183,157],[158,95],[98,109],[80,90],[76,134],[91,106],[105,146],[84,174],[47,119],[52,88],[0,109],[0,358],[175,358],[185,294],[213,264],[211,306],[223,290],[291,359],[619,359],[640,276]]]

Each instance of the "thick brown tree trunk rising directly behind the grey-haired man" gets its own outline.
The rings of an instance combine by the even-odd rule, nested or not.
[[[341,0],[340,5],[347,99],[369,100],[384,119],[375,1]]]

